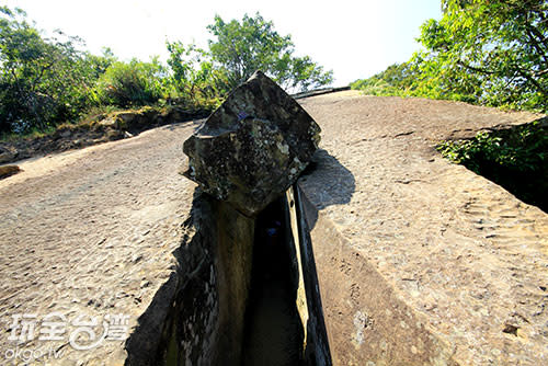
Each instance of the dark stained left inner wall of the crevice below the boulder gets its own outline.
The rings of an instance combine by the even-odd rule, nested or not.
[[[239,365],[254,220],[196,193],[178,265],[126,343],[126,365]]]

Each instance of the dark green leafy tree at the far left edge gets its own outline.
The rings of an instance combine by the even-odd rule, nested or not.
[[[78,116],[95,75],[81,39],[45,38],[20,9],[0,7],[0,130],[45,128]]]

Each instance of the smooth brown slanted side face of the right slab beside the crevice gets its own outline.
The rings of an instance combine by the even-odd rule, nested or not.
[[[457,365],[450,347],[425,328],[367,259],[308,201],[306,191],[296,186],[304,225],[310,229],[306,248],[316,253],[307,272],[316,263],[333,364]]]

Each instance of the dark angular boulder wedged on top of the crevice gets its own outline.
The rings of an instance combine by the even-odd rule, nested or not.
[[[256,71],[184,142],[184,175],[254,216],[295,182],[319,141],[312,117]]]

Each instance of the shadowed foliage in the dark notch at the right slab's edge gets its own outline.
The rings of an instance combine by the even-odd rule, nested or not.
[[[548,211],[548,124],[539,119],[512,129],[482,131],[469,140],[445,141],[437,150]],[[520,178],[520,179],[516,179]]]

